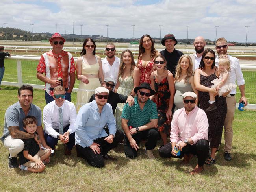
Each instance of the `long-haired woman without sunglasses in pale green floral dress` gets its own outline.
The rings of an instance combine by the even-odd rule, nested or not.
[[[139,86],[139,68],[135,66],[134,56],[130,50],[124,50],[120,57],[120,67],[115,92],[124,96],[135,96],[134,88]],[[134,101],[132,101],[134,103]],[[132,104],[133,104],[132,103]],[[115,110],[117,127],[122,131],[121,115],[124,103],[118,103]]]

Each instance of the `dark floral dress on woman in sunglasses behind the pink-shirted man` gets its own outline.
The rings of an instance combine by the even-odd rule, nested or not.
[[[166,121],[166,113],[168,110],[171,93],[169,90],[167,76],[160,83],[157,82],[157,79],[154,76],[154,81],[156,90],[154,102],[156,103],[158,110],[158,131],[169,135],[171,131],[171,121]]]

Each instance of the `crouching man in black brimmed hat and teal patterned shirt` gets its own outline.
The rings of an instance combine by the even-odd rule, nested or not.
[[[137,157],[139,143],[147,139],[145,143],[146,155],[148,159],[155,159],[152,152],[156,147],[159,138],[156,129],[158,114],[156,103],[149,99],[150,95],[156,94],[150,88],[148,83],[141,83],[139,87],[134,88],[137,97],[134,98],[134,105],[124,105],[122,111],[122,129],[124,130],[124,154],[127,158]]]

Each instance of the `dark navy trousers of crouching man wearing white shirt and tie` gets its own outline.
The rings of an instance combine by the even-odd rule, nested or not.
[[[69,130],[69,125],[66,126],[63,131],[64,133],[67,132]],[[55,131],[57,131],[59,133],[59,130],[58,129],[55,129]],[[57,145],[58,143],[58,138],[54,138],[52,137],[51,135],[47,135],[46,133],[44,134],[45,136],[45,141],[46,141],[46,144],[48,146],[50,146],[52,149],[55,148],[55,146]],[[69,142],[66,143],[66,146],[67,148],[71,151],[73,146],[75,144],[75,132],[70,134],[69,135]]]

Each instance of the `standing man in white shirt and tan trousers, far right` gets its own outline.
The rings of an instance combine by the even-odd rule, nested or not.
[[[239,60],[236,57],[232,57],[227,54],[228,52],[228,44],[225,38],[219,38],[216,41],[216,51],[218,55],[216,55],[215,65],[219,65],[219,55],[227,55],[230,60],[230,82],[236,83],[239,87],[241,92],[241,97],[239,99],[239,103],[241,101],[245,102],[245,106],[248,104],[245,98],[245,80],[243,78],[243,73],[241,71],[241,67],[239,65]],[[225,122],[224,122],[224,129],[225,129],[225,146],[224,146],[224,158],[226,161],[230,161],[231,155],[230,151],[232,149],[232,139],[233,139],[233,120],[234,120],[234,113],[236,109],[236,89],[232,89],[230,94],[226,97],[228,111],[226,114]]]

